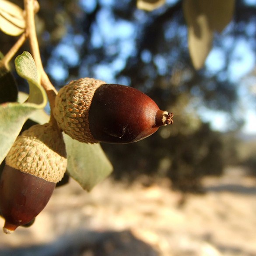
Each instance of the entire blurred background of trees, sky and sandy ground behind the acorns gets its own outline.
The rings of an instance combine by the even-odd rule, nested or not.
[[[56,188],[30,228],[0,233],[0,256],[256,256],[255,1],[235,1],[200,70],[182,0],[152,12],[134,0],[39,4],[42,60],[57,89],[80,77],[130,85],[174,112],[174,124],[102,144],[112,175],[90,193],[72,179]],[[16,40],[0,32],[1,51]]]

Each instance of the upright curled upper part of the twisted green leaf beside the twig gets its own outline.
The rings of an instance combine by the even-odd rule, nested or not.
[[[25,78],[29,84],[28,102],[46,105],[46,92],[38,84],[35,61],[28,52],[24,52],[15,59],[15,67],[19,76]]]

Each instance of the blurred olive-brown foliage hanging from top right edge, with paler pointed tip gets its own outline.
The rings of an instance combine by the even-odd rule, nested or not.
[[[221,32],[231,21],[235,0],[184,0],[183,13],[188,25],[189,53],[196,70],[203,67],[212,48],[214,32]]]

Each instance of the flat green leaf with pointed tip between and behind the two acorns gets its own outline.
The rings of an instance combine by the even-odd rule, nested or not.
[[[63,134],[67,151],[67,173],[90,191],[111,172],[112,165],[100,144],[85,144]]]

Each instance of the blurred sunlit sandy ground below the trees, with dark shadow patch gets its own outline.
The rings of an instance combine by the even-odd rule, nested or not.
[[[0,256],[256,256],[256,179],[229,168],[203,186],[184,197],[106,179],[87,193],[71,180],[30,228],[0,233]]]

